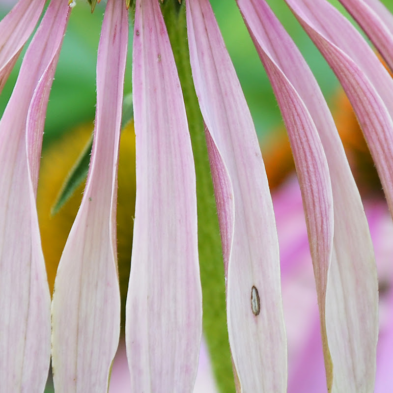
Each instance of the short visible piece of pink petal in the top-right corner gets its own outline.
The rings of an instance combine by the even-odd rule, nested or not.
[[[393,16],[379,0],[340,0],[393,69]]]

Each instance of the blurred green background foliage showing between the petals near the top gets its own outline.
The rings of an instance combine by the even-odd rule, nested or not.
[[[0,17],[12,0],[0,1]],[[283,0],[268,0],[291,34],[314,72],[326,99],[337,88],[337,80],[309,37],[300,28]],[[337,0],[332,0],[335,5]],[[393,0],[383,1],[393,9]],[[234,0],[211,0],[225,43],[232,58],[258,136],[263,136],[281,123],[281,115],[267,76],[256,54],[251,38]],[[340,7],[338,5],[338,7]],[[45,126],[44,147],[70,127],[91,120],[95,113],[95,67],[104,1],[91,14],[86,0],[77,0],[61,51],[51,92]],[[340,7],[342,9],[342,7]],[[132,39],[132,30],[130,30]],[[127,63],[125,93],[131,92],[131,42]],[[22,56],[21,56],[22,58]],[[5,108],[21,63],[18,61],[0,96],[0,113]]]

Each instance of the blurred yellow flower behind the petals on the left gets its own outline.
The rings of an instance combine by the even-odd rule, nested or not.
[[[89,140],[92,130],[92,123],[70,130],[45,150],[41,160],[37,209],[51,293],[57,265],[82,200],[84,184],[79,186],[54,216],[51,215],[51,209],[69,171]],[[121,133],[118,169],[117,253],[122,312],[130,274],[135,190],[135,134],[134,123],[130,122]]]

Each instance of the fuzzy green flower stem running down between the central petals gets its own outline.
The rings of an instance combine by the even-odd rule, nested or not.
[[[203,332],[217,385],[234,393],[231,355],[226,327],[224,263],[216,201],[207,155],[204,124],[191,75],[185,2],[167,0],[162,6],[183,90],[197,175],[199,264],[203,295]]]

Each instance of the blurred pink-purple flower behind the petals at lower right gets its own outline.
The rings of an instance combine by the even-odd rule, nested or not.
[[[282,298],[288,337],[288,393],[321,392],[326,377],[318,305],[302,199],[295,178],[289,178],[273,194],[273,204],[279,234]],[[384,200],[367,199],[364,204],[380,287],[375,393],[388,393],[393,386],[393,223]]]

